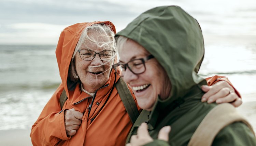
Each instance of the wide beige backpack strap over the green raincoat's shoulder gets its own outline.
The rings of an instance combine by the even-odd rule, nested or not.
[[[188,146],[211,146],[219,131],[234,122],[245,123],[254,133],[251,124],[231,104],[217,105],[204,117]]]

